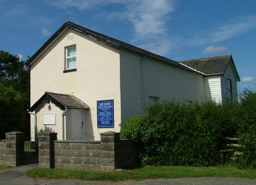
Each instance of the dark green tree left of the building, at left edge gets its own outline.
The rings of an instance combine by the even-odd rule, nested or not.
[[[28,132],[28,61],[0,51],[0,138],[8,131]]]

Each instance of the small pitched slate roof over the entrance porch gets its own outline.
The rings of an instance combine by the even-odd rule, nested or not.
[[[39,105],[44,102],[48,103],[49,101],[52,101],[52,103],[60,107],[62,110],[65,110],[65,108],[89,108],[86,103],[76,98],[76,96],[70,94],[45,92],[45,94],[38,101],[36,101],[36,103],[31,108],[29,108],[29,111],[33,112]]]

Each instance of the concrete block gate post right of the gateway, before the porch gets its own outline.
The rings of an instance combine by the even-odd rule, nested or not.
[[[57,133],[38,133],[38,166],[54,168],[54,140]]]

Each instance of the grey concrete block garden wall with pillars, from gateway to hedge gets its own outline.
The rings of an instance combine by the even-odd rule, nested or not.
[[[115,170],[136,166],[134,145],[129,140],[120,140],[119,133],[101,133],[99,142],[60,141],[56,138],[56,133],[54,137],[49,137],[49,133],[38,134],[40,167]],[[54,159],[50,160],[49,156]]]

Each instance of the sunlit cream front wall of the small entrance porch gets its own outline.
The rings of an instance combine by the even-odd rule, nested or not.
[[[43,103],[40,107],[36,109],[36,117],[37,117],[37,130],[38,131],[47,131],[51,130],[53,132],[57,132],[58,140],[62,139],[62,112],[59,107],[56,107],[54,103],[50,103],[51,108],[49,109],[49,103]],[[56,124],[47,124],[44,125],[44,114],[56,114]]]

